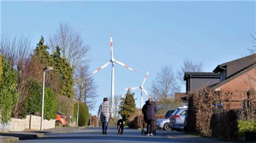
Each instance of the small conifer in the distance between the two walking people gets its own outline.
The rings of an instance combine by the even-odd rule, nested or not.
[[[126,98],[120,104],[119,114],[121,115],[123,120],[128,120],[134,111],[136,111],[134,93],[131,93],[130,90],[128,90],[126,93]]]

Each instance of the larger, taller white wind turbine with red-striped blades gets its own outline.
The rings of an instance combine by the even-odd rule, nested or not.
[[[114,59],[113,44],[112,44],[112,34],[111,34],[111,60],[109,62],[105,63],[105,65],[102,65],[97,70],[93,71],[92,74],[95,74],[95,72],[100,71],[101,69],[105,68],[111,62],[112,62],[112,72],[111,72],[111,108],[113,109],[114,108],[113,107],[114,106],[114,62],[116,62],[118,65],[122,65],[124,68],[130,69],[131,71],[135,71],[135,70],[133,70],[133,68],[130,68],[128,65],[124,65],[123,62],[119,62],[116,59]]]

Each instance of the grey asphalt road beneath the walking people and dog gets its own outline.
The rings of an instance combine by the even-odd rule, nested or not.
[[[116,127],[109,127],[108,134],[102,135],[100,127],[86,127],[72,132],[45,132],[44,137],[18,141],[20,143],[44,142],[89,142],[89,143],[221,143],[214,138],[204,138],[197,135],[188,135],[185,132],[157,130],[157,135],[142,135],[139,129],[124,129],[123,135],[117,135]]]

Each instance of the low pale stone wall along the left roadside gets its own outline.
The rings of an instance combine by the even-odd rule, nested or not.
[[[7,124],[0,123],[0,131],[23,131],[25,129],[39,130],[41,126],[41,117],[35,115],[27,115],[25,119],[11,118]],[[43,120],[43,129],[55,128],[55,120]]]

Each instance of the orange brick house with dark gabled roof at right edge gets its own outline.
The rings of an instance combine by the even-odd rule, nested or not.
[[[248,91],[256,90],[256,54],[217,65],[213,72],[220,73],[220,83],[211,88],[231,94],[230,108],[241,108]]]

